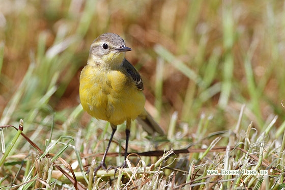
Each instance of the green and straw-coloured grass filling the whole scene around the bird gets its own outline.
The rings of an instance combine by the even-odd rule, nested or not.
[[[3,2],[0,188],[284,188],[283,7]],[[90,44],[104,32],[120,34],[133,49],[127,59],[143,76],[146,108],[167,133],[151,136],[134,122],[128,167],[93,178],[86,171],[100,161],[110,126],[82,111],[78,78]],[[122,165],[124,127],[111,143],[109,166]]]

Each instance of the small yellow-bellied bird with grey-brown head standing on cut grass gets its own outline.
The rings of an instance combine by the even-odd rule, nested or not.
[[[80,74],[79,96],[83,109],[97,119],[110,122],[112,127],[110,140],[95,173],[101,167],[107,170],[105,158],[117,125],[126,121],[125,161],[122,168],[126,167],[131,120],[137,118],[149,133],[164,133],[144,108],[143,80],[125,59],[125,52],[130,50],[119,35],[104,33],[93,41],[87,65]]]

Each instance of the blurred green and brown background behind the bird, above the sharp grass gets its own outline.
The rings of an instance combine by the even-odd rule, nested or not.
[[[166,131],[175,111],[176,132],[203,118],[210,131],[233,127],[242,104],[244,126],[263,128],[273,115],[281,123],[284,18],[282,1],[2,0],[0,124],[23,118],[27,133],[42,127],[44,136],[52,117],[66,127],[89,47],[105,32],[133,49],[126,57],[144,79],[146,108]],[[68,126],[90,119],[80,113]]]

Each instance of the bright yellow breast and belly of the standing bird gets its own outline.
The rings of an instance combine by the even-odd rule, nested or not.
[[[79,96],[91,116],[114,125],[143,113],[146,101],[143,91],[137,90],[124,73],[99,72],[89,65],[81,71]]]

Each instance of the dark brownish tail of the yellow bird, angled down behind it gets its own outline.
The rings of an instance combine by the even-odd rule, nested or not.
[[[136,120],[141,126],[143,126],[145,131],[150,134],[153,134],[154,132],[157,132],[159,134],[165,133],[164,130],[156,123],[156,121],[154,121],[154,119],[146,110],[143,114],[140,114]]]

